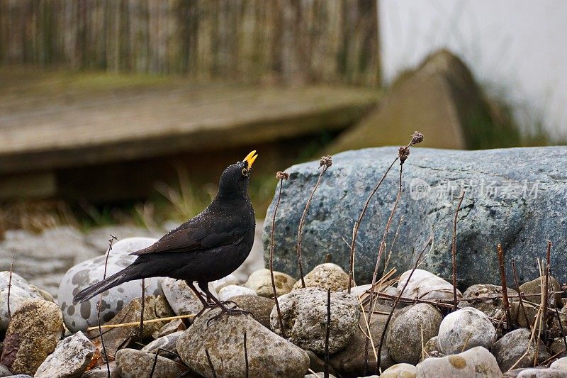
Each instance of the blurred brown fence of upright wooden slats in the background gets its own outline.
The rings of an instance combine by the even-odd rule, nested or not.
[[[0,0],[0,64],[375,86],[376,0]]]

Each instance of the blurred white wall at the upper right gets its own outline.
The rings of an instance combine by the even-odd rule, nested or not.
[[[379,0],[383,78],[449,48],[526,128],[567,137],[567,1]]]

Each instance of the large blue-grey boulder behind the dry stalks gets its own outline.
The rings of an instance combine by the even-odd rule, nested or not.
[[[427,138],[427,135],[425,135]],[[409,139],[409,135],[408,135]],[[322,178],[303,227],[303,271],[325,260],[346,272],[352,228],[366,198],[398,155],[398,148],[369,148],[342,152]],[[294,165],[283,182],[276,218],[274,269],[298,277],[296,240],[299,220],[315,185],[319,162]],[[559,282],[567,279],[567,147],[510,148],[460,151],[412,148],[404,165],[403,195],[388,235],[393,245],[390,267],[411,269],[417,253],[434,235],[432,251],[422,269],[451,277],[451,239],[454,212],[464,186],[466,195],[457,228],[459,287],[500,284],[496,245],[502,243],[508,284],[512,259],[520,282],[538,276],[535,257],[544,257],[546,240],[554,247],[551,263]],[[398,189],[398,165],[372,199],[360,226],[355,257],[357,284],[369,282],[376,251]],[[277,194],[277,193],[276,193]],[[276,196],[266,213],[273,216]],[[271,221],[264,226],[264,251],[269,251]],[[388,245],[388,250],[391,245]],[[415,252],[412,252],[414,250]],[[382,264],[383,266],[383,264]]]

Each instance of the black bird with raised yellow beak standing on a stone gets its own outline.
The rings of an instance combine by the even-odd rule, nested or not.
[[[229,165],[220,176],[215,199],[205,210],[150,247],[130,253],[137,256],[131,265],[80,291],[73,302],[87,301],[133,279],[172,277],[187,282],[203,303],[203,310],[216,305],[225,313],[242,313],[210,294],[208,283],[234,272],[252,249],[256,221],[248,196],[248,182],[257,157],[254,150],[242,162]],[[206,297],[193,282],[198,283]],[[209,298],[214,304],[208,303]]]

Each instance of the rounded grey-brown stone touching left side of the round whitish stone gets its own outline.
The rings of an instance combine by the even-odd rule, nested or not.
[[[386,346],[395,362],[416,364],[422,355],[422,340],[437,335],[443,316],[430,304],[402,308],[388,327]]]

